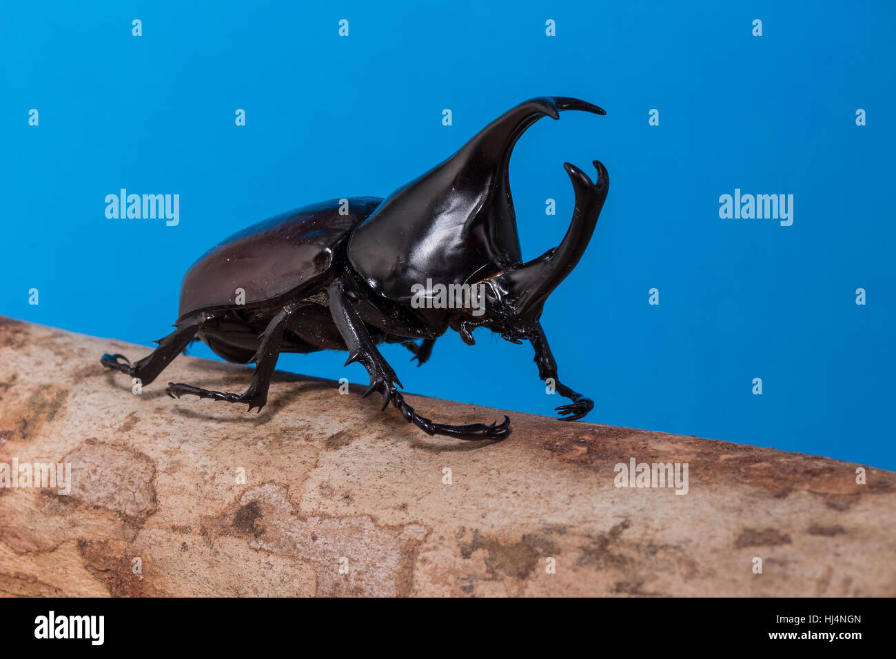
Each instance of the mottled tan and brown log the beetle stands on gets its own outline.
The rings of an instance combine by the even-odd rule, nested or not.
[[[0,318],[0,464],[72,468],[67,494],[0,488],[0,593],[896,594],[891,472],[513,412],[500,443],[430,438],[288,374],[249,414],[164,393],[248,368],[182,357],[134,395],[99,365],[148,350]],[[616,487],[632,458],[687,464],[687,493]]]

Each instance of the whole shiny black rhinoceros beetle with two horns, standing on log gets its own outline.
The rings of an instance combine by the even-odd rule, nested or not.
[[[248,403],[250,411],[260,411],[280,352],[349,351],[346,365],[359,361],[370,375],[365,395],[378,391],[383,409],[391,402],[429,435],[504,438],[510,432],[506,416],[500,424],[446,425],[418,415],[376,348],[402,343],[422,365],[449,328],[471,345],[473,330],[487,327],[513,343],[530,341],[538,377],[553,378],[556,391],[572,401],[556,408],[561,419],[581,419],[594,403],[561,384],[538,321],[547,296],[588,245],[607,197],[607,169],[595,160],[592,183],[581,169],[564,164],[575,193],[573,220],[558,247],[528,263],[522,262],[508,180],[520,135],[540,117],[557,119],[563,110],[606,114],[583,100],[528,100],[385,200],[335,199],[240,231],[187,271],[176,329],[155,342],[155,351],[134,365],[123,355],[104,354],[102,364],[148,385],[198,338],[225,360],[254,362],[252,384],[243,394],[228,394],[172,382],[168,395]],[[439,284],[455,291],[467,285],[469,304],[413,304],[419,295],[429,302],[438,298],[432,291]],[[237,304],[240,289],[245,297]]]

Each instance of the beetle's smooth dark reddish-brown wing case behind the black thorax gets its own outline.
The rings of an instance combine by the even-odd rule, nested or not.
[[[286,295],[332,264],[332,249],[383,201],[332,199],[254,224],[206,252],[184,275],[184,317],[206,308],[253,304]],[[346,214],[340,214],[340,210]]]

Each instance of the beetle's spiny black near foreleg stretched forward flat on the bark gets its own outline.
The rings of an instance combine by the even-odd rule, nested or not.
[[[346,282],[337,280],[327,290],[330,298],[330,312],[333,322],[339,329],[346,348],[349,350],[348,366],[353,361],[361,362],[370,374],[370,387],[365,396],[374,391],[383,394],[383,410],[391,402],[405,421],[413,423],[428,435],[445,435],[458,439],[501,439],[510,434],[510,418],[504,416],[500,424],[470,423],[463,426],[452,426],[444,423],[435,423],[414,412],[414,408],[405,403],[404,397],[399,393],[396,385],[401,386],[395,371],[383,359],[383,355],[376,349],[370,334],[367,334],[364,321],[358,316],[358,311],[351,303],[351,299],[343,290],[344,286],[350,286]]]

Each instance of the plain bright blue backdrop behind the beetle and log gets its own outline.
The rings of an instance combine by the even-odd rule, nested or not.
[[[522,100],[574,96],[607,117],[542,119],[511,184],[531,258],[568,225],[564,160],[610,172],[590,247],[542,318],[561,380],[596,402],[587,420],[894,469],[894,5],[788,5],[4,2],[0,313],[149,344],[221,238],[388,195]],[[179,194],[179,226],[107,220],[121,187]],[[735,187],[795,195],[793,226],[719,219]],[[383,354],[412,392],[565,403],[529,345],[476,338],[446,335],[419,369],[401,346]],[[344,360],[280,368],[366,384]]]

